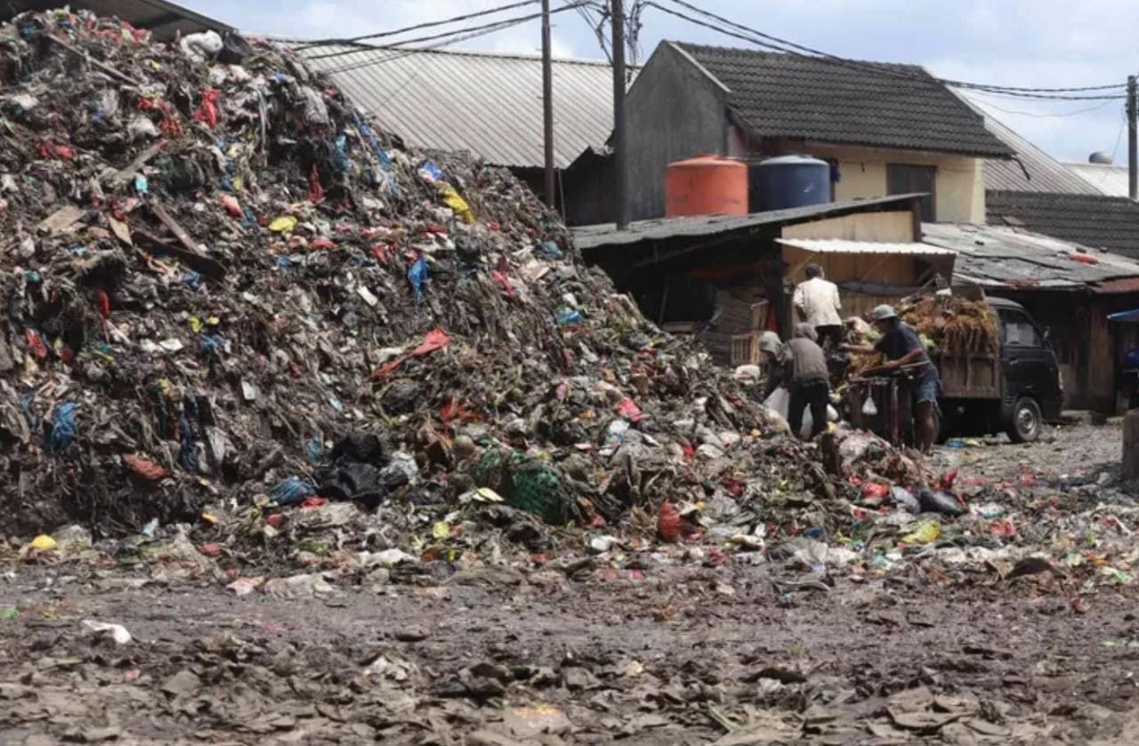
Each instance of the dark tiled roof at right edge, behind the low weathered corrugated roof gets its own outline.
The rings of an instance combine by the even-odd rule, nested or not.
[[[1139,259],[1139,204],[1125,197],[986,191],[991,226],[1011,226]]]

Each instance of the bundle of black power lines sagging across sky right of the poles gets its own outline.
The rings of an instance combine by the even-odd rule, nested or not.
[[[1067,93],[1067,92],[1114,90],[1114,89],[1117,89],[1117,88],[1122,88],[1122,85],[1084,87],[1084,88],[1077,88],[1077,89],[1076,88],[1073,88],[1073,89],[1027,89],[1027,88],[1019,89],[1019,88],[1015,88],[1015,87],[999,87],[999,85],[989,85],[989,84],[983,84],[983,83],[970,83],[970,82],[966,82],[966,81],[954,81],[954,80],[949,80],[949,79],[940,79],[940,77],[934,77],[932,75],[929,75],[929,76],[918,76],[918,75],[907,74],[907,73],[904,73],[904,72],[902,72],[900,69],[887,68],[887,67],[884,67],[883,65],[874,64],[874,63],[862,63],[862,62],[859,62],[859,60],[846,59],[844,57],[838,57],[837,55],[831,55],[831,54],[828,54],[828,52],[825,52],[825,51],[821,51],[821,50],[818,50],[818,49],[812,49],[811,47],[805,47],[803,44],[797,44],[795,42],[787,41],[785,39],[780,39],[778,36],[772,36],[771,34],[767,34],[767,33],[763,33],[763,32],[757,31],[755,28],[751,28],[749,26],[744,26],[741,24],[738,24],[738,23],[735,23],[735,22],[729,21],[727,18],[723,18],[722,16],[718,16],[718,15],[715,15],[713,13],[707,11],[707,10],[703,10],[700,8],[697,8],[696,6],[693,6],[693,5],[688,3],[688,2],[685,2],[683,0],[671,0],[671,2],[673,2],[673,3],[678,5],[678,6],[681,6],[683,8],[690,9],[690,10],[693,10],[695,13],[698,13],[699,15],[705,16],[707,18],[712,18],[712,19],[714,19],[714,21],[716,21],[716,22],[719,22],[721,24],[727,24],[728,26],[731,26],[731,27],[735,27],[737,30],[744,31],[744,32],[747,33],[747,35],[744,35],[744,34],[730,31],[728,28],[723,28],[721,26],[716,26],[716,25],[706,23],[706,22],[700,21],[698,18],[693,18],[691,16],[688,16],[688,15],[686,15],[683,13],[680,13],[678,10],[674,10],[672,8],[666,8],[666,7],[662,6],[662,5],[659,5],[658,2],[654,2],[653,0],[648,0],[648,2],[646,2],[645,5],[648,6],[648,7],[654,7],[657,10],[666,13],[666,14],[669,14],[671,16],[675,16],[675,17],[681,18],[683,21],[687,21],[689,23],[703,26],[705,28],[710,28],[712,31],[716,31],[716,32],[722,33],[724,35],[734,36],[736,39],[741,39],[744,41],[749,41],[751,43],[753,43],[753,44],[755,44],[757,47],[764,48],[764,49],[770,49],[770,50],[773,50],[773,51],[778,51],[778,52],[782,52],[782,54],[788,54],[788,55],[794,55],[794,56],[798,56],[798,57],[808,56],[808,57],[811,57],[811,58],[825,58],[825,59],[827,59],[829,62],[833,62],[833,63],[835,63],[837,65],[842,65],[842,66],[845,66],[845,67],[852,67],[854,69],[860,69],[862,72],[870,72],[870,73],[875,73],[875,74],[878,74],[878,75],[891,76],[891,77],[901,79],[901,80],[909,80],[909,81],[913,81],[913,82],[941,83],[943,85],[952,85],[954,88],[964,88],[964,89],[988,91],[988,92],[993,93],[993,95],[1006,96],[1006,97],[1009,97],[1009,98],[1029,98],[1029,99],[1048,99],[1048,100],[1117,100],[1117,99],[1124,98],[1123,96],[1066,96],[1066,95],[1060,95],[1060,93]]]

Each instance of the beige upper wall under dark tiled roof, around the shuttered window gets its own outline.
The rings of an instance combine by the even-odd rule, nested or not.
[[[937,169],[934,208],[937,222],[985,222],[985,182],[983,161],[965,156],[812,146],[817,158],[837,158],[842,180],[835,185],[836,202],[886,195],[886,164],[935,166]]]

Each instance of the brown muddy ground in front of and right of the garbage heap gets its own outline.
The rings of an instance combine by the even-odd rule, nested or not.
[[[1118,443],[1117,426],[1080,425],[936,458],[964,477],[1106,482]],[[1134,585],[755,559],[486,567],[303,598],[11,565],[0,744],[1139,743]]]

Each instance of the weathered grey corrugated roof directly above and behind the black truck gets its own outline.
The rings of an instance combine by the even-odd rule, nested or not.
[[[1080,289],[1139,277],[1139,262],[1015,228],[923,223],[921,232],[925,243],[957,252],[954,277],[986,287]]]

